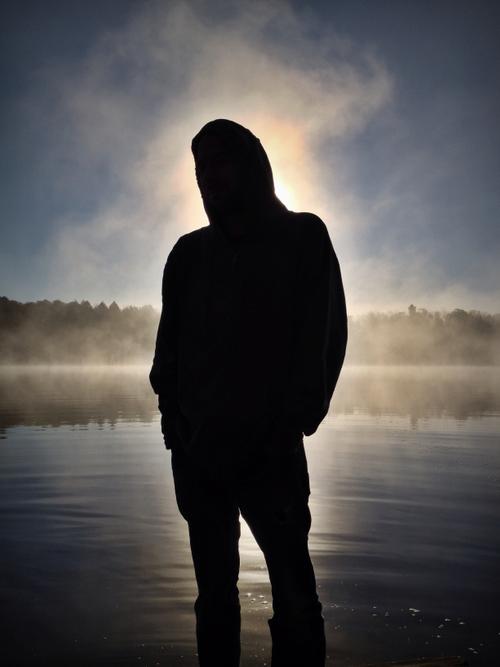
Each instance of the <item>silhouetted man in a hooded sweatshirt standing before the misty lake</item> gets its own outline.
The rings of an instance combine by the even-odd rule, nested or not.
[[[339,265],[323,221],[276,197],[249,130],[214,120],[191,148],[210,224],[168,256],[150,379],[189,527],[199,662],[239,664],[241,512],[269,570],[273,667],[323,666],[303,436],[344,360]]]

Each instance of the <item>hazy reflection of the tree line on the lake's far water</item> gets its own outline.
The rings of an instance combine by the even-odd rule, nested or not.
[[[149,366],[0,367],[0,437],[14,426],[157,425]],[[355,413],[484,417],[500,413],[500,367],[346,366],[328,420]]]

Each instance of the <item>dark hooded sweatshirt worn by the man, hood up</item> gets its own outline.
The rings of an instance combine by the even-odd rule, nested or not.
[[[247,168],[252,224],[235,239],[203,201],[210,224],[175,243],[150,381],[167,448],[220,467],[286,447],[294,429],[316,431],[343,364],[347,316],[324,222],[279,201],[259,139],[237,123],[205,125],[192,142],[195,163],[209,132]]]

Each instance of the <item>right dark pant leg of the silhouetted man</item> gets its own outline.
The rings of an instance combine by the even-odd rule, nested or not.
[[[238,502],[269,570],[272,667],[323,667],[324,619],[308,549],[310,487],[302,436],[288,450],[247,480]]]

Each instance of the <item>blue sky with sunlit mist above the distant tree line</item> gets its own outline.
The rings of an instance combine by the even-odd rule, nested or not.
[[[223,117],[324,220],[351,314],[500,312],[498,3],[2,7],[0,295],[159,307]]]

